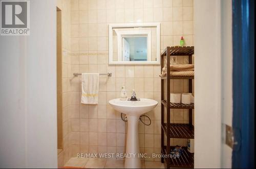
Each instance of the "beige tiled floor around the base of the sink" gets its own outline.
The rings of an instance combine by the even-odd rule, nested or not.
[[[65,167],[84,168],[124,168],[124,160],[101,159],[101,158],[71,158]],[[164,168],[159,161],[141,161],[141,168]]]

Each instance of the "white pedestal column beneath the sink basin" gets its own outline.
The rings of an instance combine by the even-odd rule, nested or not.
[[[140,168],[141,162],[139,158],[139,133],[138,123],[139,116],[127,115],[127,138],[126,138],[126,155],[129,158],[125,158],[125,168]]]

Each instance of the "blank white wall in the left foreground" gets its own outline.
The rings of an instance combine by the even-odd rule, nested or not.
[[[30,1],[30,36],[0,37],[0,167],[57,167],[55,4]]]

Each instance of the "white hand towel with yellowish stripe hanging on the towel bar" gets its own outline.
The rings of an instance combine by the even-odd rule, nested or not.
[[[82,74],[82,96],[83,104],[98,104],[99,74]]]

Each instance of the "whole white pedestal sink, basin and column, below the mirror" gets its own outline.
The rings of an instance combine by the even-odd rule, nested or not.
[[[140,168],[141,162],[139,158],[139,134],[138,123],[140,115],[154,109],[158,102],[151,99],[140,99],[140,101],[120,101],[120,99],[112,99],[110,105],[117,111],[127,116],[127,140],[125,168]]]

